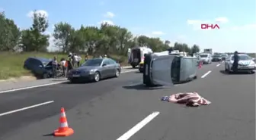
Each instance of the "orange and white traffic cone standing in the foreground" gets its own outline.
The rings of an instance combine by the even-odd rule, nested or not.
[[[69,136],[74,134],[74,130],[72,128],[69,128],[64,107],[60,109],[59,123],[60,123],[60,127],[59,129],[56,129],[54,131],[54,136]]]

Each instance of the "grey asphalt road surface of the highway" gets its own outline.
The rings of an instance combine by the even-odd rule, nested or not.
[[[46,140],[65,107],[70,140],[254,140],[255,74],[226,74],[222,63],[203,65],[198,79],[146,89],[142,74],[0,94],[0,139]],[[163,95],[198,92],[209,106],[183,107]]]

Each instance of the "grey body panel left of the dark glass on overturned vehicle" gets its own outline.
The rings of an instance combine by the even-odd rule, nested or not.
[[[171,79],[171,64],[174,55],[159,56],[152,60],[152,81],[162,86],[173,86]]]

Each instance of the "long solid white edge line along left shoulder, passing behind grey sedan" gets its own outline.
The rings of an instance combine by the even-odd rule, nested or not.
[[[137,71],[137,70],[127,70],[127,71],[123,71],[121,73],[130,73],[130,72],[133,72],[133,71]],[[27,87],[24,87],[24,88],[0,91],[0,94],[6,93],[6,92],[15,92],[15,91],[24,90],[24,89],[34,89],[34,88],[39,88],[39,87],[43,87],[43,86],[52,86],[52,85],[57,85],[57,84],[60,84],[60,83],[63,83],[63,82],[68,82],[68,80],[65,80],[65,81],[62,81],[62,82],[53,82],[53,83],[47,83],[47,84],[43,84],[43,85],[27,86]]]

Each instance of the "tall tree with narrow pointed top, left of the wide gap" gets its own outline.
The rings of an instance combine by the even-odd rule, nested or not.
[[[28,30],[21,33],[20,47],[23,51],[47,51],[49,35],[44,32],[48,28],[46,15],[34,11],[33,24]]]

